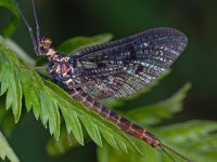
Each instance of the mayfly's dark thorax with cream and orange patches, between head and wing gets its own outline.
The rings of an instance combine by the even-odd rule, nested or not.
[[[77,69],[73,65],[71,57],[59,52],[49,57],[49,75],[65,90],[73,90],[80,84]]]

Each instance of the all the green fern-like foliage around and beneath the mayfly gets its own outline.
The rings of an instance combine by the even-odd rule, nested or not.
[[[150,146],[144,146],[144,143],[129,137],[115,124],[102,119],[79,102],[73,100],[61,87],[51,81],[44,80],[35,70],[23,68],[28,67],[31,63],[24,62],[21,55],[15,53],[16,51],[12,51],[14,43],[5,43],[8,42],[5,37],[11,36],[16,28],[20,17],[17,10],[11,0],[0,0],[0,5],[9,9],[15,15],[15,21],[12,19],[5,28],[3,31],[4,39],[1,38],[0,41],[0,95],[3,102],[3,104],[1,103],[1,110],[11,110],[15,123],[21,119],[22,108],[25,107],[28,112],[33,111],[36,119],[40,119],[44,127],[48,127],[50,134],[53,135],[48,145],[51,154],[64,153],[71,148],[66,141],[67,136],[76,141],[76,146],[78,146],[84,145],[85,137],[89,135],[100,146],[98,147],[100,162],[168,161],[168,157],[158,153]],[[69,54],[79,48],[103,43],[111,38],[111,35],[74,38],[63,42],[59,49]],[[174,149],[190,159],[199,162],[212,162],[215,161],[217,154],[215,151],[217,150],[216,122],[189,121],[166,126],[155,125],[159,124],[163,119],[171,118],[174,113],[182,109],[182,102],[189,89],[190,84],[186,84],[168,99],[119,112],[143,126],[149,125],[149,130],[156,134],[159,139],[163,139],[166,145],[173,146]],[[141,92],[129,99],[130,102],[137,100],[145,93]],[[25,100],[24,104],[23,99]],[[125,104],[125,100],[113,102],[113,106],[117,108],[124,107]],[[7,113],[0,114],[0,121],[2,121],[2,117],[7,117]],[[82,125],[86,129],[85,133]],[[103,143],[103,139],[107,143]],[[1,159],[7,156],[11,161],[18,161],[1,133],[0,144]],[[130,154],[127,154],[126,152],[129,151]],[[141,156],[143,153],[145,157]]]

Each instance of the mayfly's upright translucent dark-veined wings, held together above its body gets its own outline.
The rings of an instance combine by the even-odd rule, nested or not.
[[[187,37],[173,28],[151,29],[75,53],[84,90],[94,98],[125,97],[167,69],[186,49]]]

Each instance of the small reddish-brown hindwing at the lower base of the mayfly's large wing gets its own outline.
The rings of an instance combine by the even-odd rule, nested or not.
[[[85,70],[82,76],[82,89],[95,99],[114,97],[127,84],[126,71],[116,67]]]

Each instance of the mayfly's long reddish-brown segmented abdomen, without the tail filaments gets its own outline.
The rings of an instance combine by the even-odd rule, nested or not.
[[[161,144],[161,141],[153,134],[142,129],[141,126],[130,122],[126,118],[120,117],[107,107],[101,105],[100,103],[91,98],[88,94],[86,94],[82,90],[74,90],[68,92],[68,94],[74,99],[81,102],[85,106],[101,114],[104,119],[107,119],[118,125],[125,133],[132,135],[136,138],[142,139],[153,147],[156,147]]]

